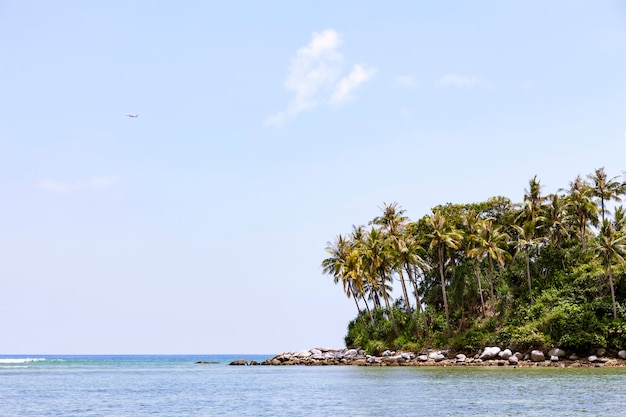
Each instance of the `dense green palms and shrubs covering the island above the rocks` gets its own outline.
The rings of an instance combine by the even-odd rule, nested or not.
[[[357,309],[346,347],[585,353],[626,346],[626,182],[603,168],[523,202],[445,204],[417,221],[397,203],[328,243],[324,273]],[[393,285],[401,296],[394,300]]]

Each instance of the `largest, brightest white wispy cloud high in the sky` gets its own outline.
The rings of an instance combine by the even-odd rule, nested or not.
[[[313,33],[311,42],[297,51],[289,67],[285,89],[293,93],[292,100],[286,109],[268,117],[266,125],[281,126],[321,103],[343,101],[372,76],[372,70],[356,65],[340,79],[344,60],[340,45],[341,37],[334,29]]]

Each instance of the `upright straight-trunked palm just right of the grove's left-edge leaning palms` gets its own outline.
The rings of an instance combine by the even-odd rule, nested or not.
[[[446,314],[447,336],[450,337],[450,313],[448,309],[448,297],[446,295],[445,260],[447,249],[458,249],[463,236],[452,225],[447,224],[446,218],[439,211],[435,211],[431,216],[426,217],[426,222],[431,228],[428,234],[430,240],[429,248],[435,250],[437,265],[439,267],[439,278],[441,279],[441,295]]]

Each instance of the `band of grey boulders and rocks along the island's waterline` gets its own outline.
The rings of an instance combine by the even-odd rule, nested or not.
[[[547,352],[532,350],[526,353],[514,353],[509,349],[491,346],[474,354],[433,349],[421,353],[387,350],[380,356],[368,355],[362,349],[315,348],[298,352],[283,352],[263,362],[247,362],[245,359],[240,359],[231,362],[230,365],[626,367],[626,350],[611,355],[606,349],[598,349],[590,355],[579,358],[576,354],[567,354],[559,348]]]

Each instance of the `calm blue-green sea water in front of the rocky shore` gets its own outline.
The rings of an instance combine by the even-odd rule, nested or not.
[[[228,366],[271,356],[0,355],[0,416],[626,415],[626,369]]]

